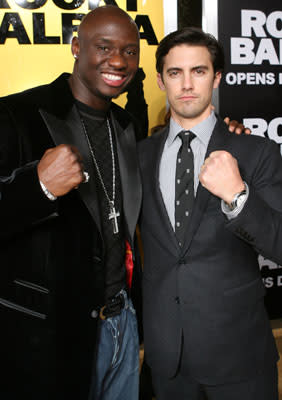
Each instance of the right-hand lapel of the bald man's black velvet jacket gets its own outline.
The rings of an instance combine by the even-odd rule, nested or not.
[[[113,112],[111,113],[111,121],[117,143],[124,216],[129,235],[133,238],[142,198],[134,129],[132,123],[123,128],[115,118]]]

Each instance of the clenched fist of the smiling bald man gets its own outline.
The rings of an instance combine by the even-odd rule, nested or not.
[[[83,163],[74,146],[61,144],[46,150],[38,163],[39,180],[54,196],[63,196],[84,180]]]

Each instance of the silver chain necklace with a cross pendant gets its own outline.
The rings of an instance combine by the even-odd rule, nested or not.
[[[83,120],[82,118],[80,118],[80,119],[81,119],[81,123],[82,123],[82,126],[83,126],[84,135],[85,135],[85,137],[86,137],[87,144],[88,144],[88,147],[89,147],[89,150],[90,150],[90,154],[91,154],[93,163],[94,163],[94,165],[95,165],[95,168],[96,168],[96,171],[97,171],[97,174],[98,174],[99,181],[100,181],[101,186],[102,186],[102,189],[103,189],[103,191],[104,191],[104,193],[105,193],[106,199],[107,199],[107,201],[108,201],[108,203],[109,203],[110,212],[109,212],[109,218],[108,218],[108,219],[109,219],[109,221],[112,221],[112,224],[113,224],[113,233],[116,234],[116,233],[119,232],[119,230],[118,230],[118,220],[117,220],[117,217],[120,216],[120,213],[119,213],[119,211],[117,211],[117,210],[115,209],[115,197],[116,197],[116,164],[115,164],[115,152],[114,152],[113,136],[112,136],[112,130],[111,130],[110,122],[109,122],[109,119],[107,118],[107,127],[108,127],[108,133],[109,133],[109,140],[110,140],[110,147],[111,147],[111,155],[112,155],[112,169],[113,169],[113,198],[112,198],[112,200],[110,199],[110,196],[109,196],[108,191],[107,191],[107,189],[106,189],[106,185],[105,185],[104,180],[103,180],[103,178],[102,178],[102,174],[101,174],[99,165],[98,165],[98,163],[97,163],[97,160],[96,160],[94,151],[93,151],[93,149],[92,149],[92,146],[91,146],[91,143],[90,143],[88,134],[87,134],[87,129],[86,129],[84,120]]]

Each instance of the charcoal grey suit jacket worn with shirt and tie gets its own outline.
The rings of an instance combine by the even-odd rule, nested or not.
[[[199,184],[182,249],[159,188],[159,163],[168,128],[140,143],[143,183],[144,338],[153,371],[183,370],[219,384],[255,375],[277,351],[264,308],[258,253],[282,262],[282,160],[278,146],[232,135],[222,120],[207,155],[230,152],[250,194],[228,221],[221,201]],[[184,347],[183,347],[184,343]]]

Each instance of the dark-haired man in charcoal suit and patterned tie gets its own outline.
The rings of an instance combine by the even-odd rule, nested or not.
[[[145,352],[158,400],[278,399],[258,254],[282,262],[276,143],[230,135],[211,107],[224,66],[186,28],[157,50],[169,125],[141,142]],[[279,244],[280,243],[280,244]]]

